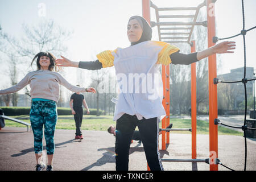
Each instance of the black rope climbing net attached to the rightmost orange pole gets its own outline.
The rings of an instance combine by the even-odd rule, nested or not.
[[[221,83],[229,83],[229,84],[232,84],[232,83],[237,83],[237,82],[242,82],[243,83],[243,86],[244,86],[244,89],[245,89],[245,119],[244,119],[244,122],[243,122],[243,126],[241,127],[235,127],[235,126],[229,126],[229,125],[225,125],[224,123],[222,123],[219,119],[214,119],[214,124],[215,125],[224,125],[224,126],[228,126],[228,127],[233,127],[233,128],[237,128],[237,129],[242,129],[243,130],[243,135],[244,135],[244,138],[245,138],[245,166],[244,166],[244,171],[246,171],[246,160],[247,160],[247,142],[246,142],[246,131],[247,130],[256,130],[255,128],[251,128],[251,127],[247,127],[246,126],[246,111],[247,111],[247,92],[246,92],[246,83],[248,81],[253,81],[253,80],[256,80],[256,78],[251,78],[251,79],[247,79],[246,78],[246,43],[245,43],[245,35],[246,35],[246,32],[250,31],[250,30],[253,30],[255,27],[252,27],[248,30],[245,30],[245,10],[244,10],[244,7],[243,7],[243,0],[242,0],[242,16],[243,16],[243,29],[241,31],[240,34],[237,34],[237,35],[234,35],[234,36],[230,36],[228,38],[217,38],[216,36],[213,37],[213,42],[216,43],[218,42],[218,40],[225,40],[225,39],[231,39],[231,38],[234,38],[236,36],[239,36],[239,35],[242,35],[243,36],[243,59],[244,59],[244,69],[243,69],[243,78],[241,81],[221,81],[219,80],[218,78],[214,78],[214,84],[218,84],[219,82]],[[222,164],[220,162],[220,159],[216,159],[216,164],[220,164],[221,166],[224,166],[226,167],[224,164]],[[234,169],[232,168],[229,168],[229,167],[226,167],[232,171],[234,171]]]

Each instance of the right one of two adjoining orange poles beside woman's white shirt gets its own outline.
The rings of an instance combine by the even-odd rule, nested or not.
[[[170,125],[170,66],[166,65],[166,127]],[[170,143],[170,132],[166,132],[166,143]]]

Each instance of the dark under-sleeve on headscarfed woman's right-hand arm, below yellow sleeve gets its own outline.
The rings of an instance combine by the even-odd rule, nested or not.
[[[197,60],[197,52],[189,53],[189,54],[184,54],[184,53],[179,53],[175,52],[170,55],[170,58],[172,60],[172,64],[185,64],[189,65],[191,63],[195,63]]]

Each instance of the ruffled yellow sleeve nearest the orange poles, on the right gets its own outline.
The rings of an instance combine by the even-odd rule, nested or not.
[[[158,53],[158,61],[156,63],[164,65],[172,63],[170,55],[179,51],[180,49],[166,42],[155,41],[155,43],[158,44],[158,46],[163,47],[162,50]]]

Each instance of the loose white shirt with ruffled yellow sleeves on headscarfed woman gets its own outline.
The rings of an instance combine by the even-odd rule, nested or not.
[[[127,48],[104,51],[97,55],[102,67],[115,68],[119,85],[118,102],[113,120],[123,114],[162,119],[163,82],[160,64],[170,64],[170,55],[179,48],[165,42],[146,41]]]

